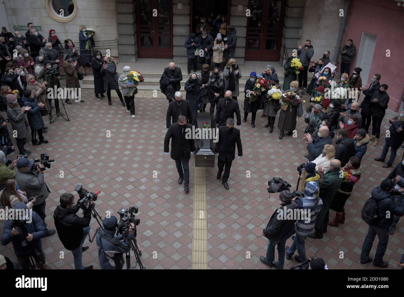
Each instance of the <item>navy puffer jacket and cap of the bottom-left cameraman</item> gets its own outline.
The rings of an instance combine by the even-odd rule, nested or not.
[[[28,209],[25,203],[17,203],[16,208],[18,209]],[[46,237],[46,229],[44,227],[44,223],[42,219],[35,211],[32,211],[32,222],[25,223],[27,227],[27,232],[34,235],[34,239],[31,241],[36,255],[40,255],[42,253],[42,243],[41,238]],[[19,234],[12,235],[11,230],[13,230],[13,220],[7,220],[4,225],[3,234],[1,236],[2,245],[8,245],[9,243],[13,244],[14,253],[17,257],[25,257],[22,245],[25,245],[27,240],[23,235],[21,228],[17,227]]]

